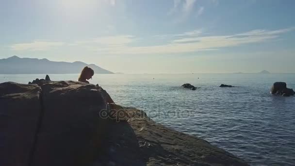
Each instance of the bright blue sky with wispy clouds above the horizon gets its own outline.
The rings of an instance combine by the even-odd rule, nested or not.
[[[295,73],[295,0],[0,0],[0,59]]]

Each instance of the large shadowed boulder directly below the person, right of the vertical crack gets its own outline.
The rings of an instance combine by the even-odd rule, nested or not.
[[[36,82],[37,83],[37,82]],[[87,166],[108,132],[107,93],[73,81],[40,81],[43,117],[31,166]]]

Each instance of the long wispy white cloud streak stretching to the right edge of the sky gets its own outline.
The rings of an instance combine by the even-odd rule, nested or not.
[[[89,40],[87,49],[101,54],[169,54],[217,50],[224,47],[269,41],[278,38],[281,33],[293,30],[294,28],[274,31],[253,30],[245,33],[215,36],[201,36],[201,32],[196,30],[169,35],[166,44],[156,46],[131,46],[137,40],[135,36],[118,35]],[[162,36],[162,38],[164,37],[165,35]]]

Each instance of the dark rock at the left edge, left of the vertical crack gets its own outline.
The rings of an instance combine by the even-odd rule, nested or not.
[[[0,166],[27,166],[41,115],[36,84],[0,83]]]

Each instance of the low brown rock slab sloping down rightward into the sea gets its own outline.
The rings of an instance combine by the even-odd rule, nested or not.
[[[154,122],[141,110],[125,110],[129,121],[110,124],[105,155],[94,166],[248,166],[203,139]]]

